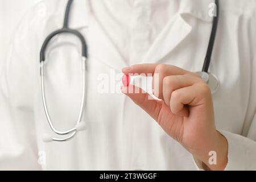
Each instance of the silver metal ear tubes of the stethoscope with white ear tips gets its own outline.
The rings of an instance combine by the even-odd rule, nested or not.
[[[85,130],[85,122],[81,122],[82,119],[82,113],[84,110],[84,105],[85,105],[85,69],[86,69],[86,57],[82,57],[82,100],[81,100],[81,106],[80,106],[80,112],[79,112],[79,118],[77,119],[77,125],[73,129],[69,129],[67,131],[59,131],[57,130],[51,121],[51,117],[49,116],[48,112],[48,107],[47,107],[47,102],[46,102],[46,94],[45,94],[45,89],[44,89],[44,65],[46,63],[44,61],[41,61],[40,63],[40,76],[41,76],[41,88],[42,88],[42,98],[43,98],[43,106],[44,106],[44,112],[46,113],[46,118],[49,123],[49,126],[51,127],[52,131],[58,135],[67,135],[71,134],[69,137],[66,138],[52,138],[48,134],[44,134],[43,140],[44,142],[51,142],[53,141],[67,141],[71,138],[73,138],[76,134],[77,131]]]

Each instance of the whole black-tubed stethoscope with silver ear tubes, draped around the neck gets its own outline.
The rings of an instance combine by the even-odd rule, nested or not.
[[[68,135],[68,134],[70,134],[70,135],[68,137],[65,137],[65,138],[55,138],[55,137],[51,137],[51,135],[44,134],[43,135],[43,141],[44,142],[52,142],[52,141],[63,142],[63,141],[67,141],[67,140],[70,140],[73,137],[75,137],[77,131],[82,131],[82,130],[86,129],[85,122],[82,122],[81,120],[82,120],[82,114],[83,114],[84,107],[85,107],[85,69],[86,69],[86,59],[88,58],[88,53],[87,53],[87,45],[86,45],[84,36],[82,36],[79,31],[72,30],[71,28],[68,28],[68,19],[69,19],[69,13],[70,13],[72,2],[73,2],[73,0],[69,0],[68,3],[67,3],[67,7],[66,7],[66,10],[65,10],[65,18],[64,18],[63,28],[61,28],[60,30],[54,31],[49,36],[47,36],[46,40],[44,40],[43,46],[42,46],[41,51],[40,51],[41,88],[42,88],[43,107],[44,107],[44,112],[46,113],[47,121],[48,121],[49,126],[51,127],[52,131],[54,133],[56,133],[57,135]],[[216,92],[216,90],[218,88],[218,79],[215,75],[213,75],[212,73],[209,73],[208,69],[209,69],[209,65],[210,65],[210,59],[212,57],[214,40],[215,40],[216,32],[217,32],[218,8],[219,8],[218,0],[216,0],[216,16],[214,16],[214,18],[213,18],[213,26],[212,26],[212,31],[211,31],[211,34],[210,34],[210,40],[209,40],[209,44],[208,44],[207,55],[205,56],[202,71],[197,72],[197,73],[199,73],[201,78],[205,82],[207,82],[207,84],[209,85],[212,93]],[[46,94],[44,92],[44,76],[45,76],[45,74],[44,74],[44,64],[46,64],[46,63],[44,61],[46,60],[45,59],[46,58],[46,48],[47,48],[47,45],[50,42],[50,40],[54,36],[59,35],[59,34],[64,34],[64,33],[65,34],[76,35],[80,39],[81,44],[82,44],[82,51],[81,51],[82,52],[82,57],[81,57],[81,61],[82,61],[82,99],[81,99],[80,112],[79,112],[79,117],[78,117],[77,122],[76,122],[76,126],[73,129],[69,129],[67,131],[59,131],[53,126],[53,123],[52,123],[51,118],[49,116],[47,103],[46,103]]]

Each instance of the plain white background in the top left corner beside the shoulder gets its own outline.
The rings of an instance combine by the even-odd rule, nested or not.
[[[0,0],[0,73],[16,26],[18,26],[26,11],[39,1]]]

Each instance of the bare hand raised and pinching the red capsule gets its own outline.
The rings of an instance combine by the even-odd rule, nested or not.
[[[195,159],[211,170],[223,170],[228,163],[228,142],[214,124],[214,110],[210,88],[197,73],[165,64],[137,64],[123,68],[126,75],[158,73],[158,98],[149,100],[148,94],[134,85],[121,90],[145,110],[162,129],[177,140]],[[153,89],[154,79],[153,79]],[[139,93],[128,90],[139,89]],[[155,91],[156,92],[156,91]],[[217,164],[209,164],[209,152],[217,154]]]

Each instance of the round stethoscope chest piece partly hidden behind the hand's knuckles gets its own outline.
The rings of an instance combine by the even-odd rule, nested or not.
[[[197,72],[201,78],[209,85],[212,94],[216,92],[219,86],[218,78],[212,73]]]

